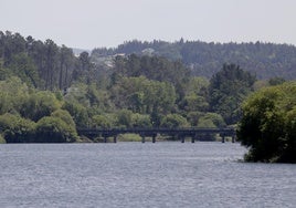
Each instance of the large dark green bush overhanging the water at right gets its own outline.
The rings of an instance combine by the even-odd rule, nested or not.
[[[262,89],[243,105],[237,138],[246,160],[296,163],[296,83]]]

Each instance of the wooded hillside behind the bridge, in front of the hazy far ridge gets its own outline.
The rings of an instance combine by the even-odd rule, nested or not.
[[[76,55],[50,39],[0,32],[0,141],[77,142],[85,127],[236,125],[250,93],[285,81],[257,81],[235,63],[197,76],[182,60],[148,52]]]

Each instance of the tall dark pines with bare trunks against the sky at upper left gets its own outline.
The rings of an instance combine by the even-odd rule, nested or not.
[[[72,49],[50,39],[42,42],[9,31],[0,31],[0,79],[17,75],[29,86],[51,91],[68,87],[91,70],[86,52],[76,58]]]

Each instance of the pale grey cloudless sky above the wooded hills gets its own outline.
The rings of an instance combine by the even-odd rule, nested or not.
[[[88,50],[181,38],[296,45],[295,11],[295,0],[0,0],[0,31]]]

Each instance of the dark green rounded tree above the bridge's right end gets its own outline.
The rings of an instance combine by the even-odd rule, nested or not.
[[[255,76],[239,65],[224,64],[210,80],[209,102],[212,112],[221,114],[228,125],[241,116],[241,103],[252,92]]]

